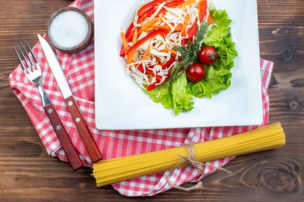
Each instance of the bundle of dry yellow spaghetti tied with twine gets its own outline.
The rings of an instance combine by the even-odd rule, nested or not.
[[[271,124],[235,136],[193,144],[195,159],[208,162],[225,157],[270,150],[285,145],[285,133],[280,123]],[[97,186],[172,169],[187,156],[187,147],[175,147],[156,152],[101,160],[93,165]],[[187,166],[182,164],[181,167]]]

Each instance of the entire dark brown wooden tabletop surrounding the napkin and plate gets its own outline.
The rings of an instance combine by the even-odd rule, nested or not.
[[[13,45],[33,47],[51,14],[71,0],[0,0],[0,201],[304,202],[304,0],[258,0],[261,57],[275,62],[270,83],[270,124],[282,122],[287,144],[236,157],[203,179],[203,189],[169,190],[127,198],[98,188],[91,169],[72,171],[52,158],[39,139],[8,77],[18,62]]]

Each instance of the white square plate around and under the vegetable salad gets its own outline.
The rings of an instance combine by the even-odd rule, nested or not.
[[[95,0],[95,115],[98,129],[156,129],[257,125],[263,122],[256,0],[213,0],[226,10],[238,57],[229,89],[194,98],[194,109],[176,116],[154,103],[126,75],[121,28],[134,19],[143,0]]]

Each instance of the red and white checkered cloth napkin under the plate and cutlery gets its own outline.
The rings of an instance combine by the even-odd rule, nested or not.
[[[82,9],[93,21],[94,10],[92,0],[76,0],[71,6]],[[55,78],[51,74],[51,69],[46,62],[46,57],[39,43],[34,46],[33,51],[37,56],[38,61],[41,63],[43,87],[50,96],[51,101],[65,125],[75,148],[80,153],[84,164],[86,166],[92,166],[87,151],[84,148],[84,144],[64,103],[63,96],[60,93]],[[99,145],[104,159],[169,149],[188,143],[214,140],[259,127],[235,126],[136,131],[98,130],[95,127],[94,113],[94,42],[92,41],[86,49],[77,54],[64,54],[56,51],[56,55],[59,58],[71,91],[75,96],[77,104],[84,115],[84,119],[88,124],[94,139]],[[260,126],[268,124],[269,96],[267,89],[272,67],[272,62],[261,59],[264,123]],[[42,107],[42,102],[36,87],[24,76],[20,66],[18,66],[10,75],[9,80],[13,92],[17,95],[27,111],[47,152],[51,156],[57,156],[61,160],[67,161],[66,155],[61,148],[48,116]],[[233,157],[207,162],[207,164],[222,167],[232,158]],[[201,174],[192,167],[176,169],[173,172],[170,181],[177,186],[186,182],[197,182],[216,170],[217,169],[214,167],[206,166],[204,168],[204,173]],[[170,188],[166,182],[166,174],[168,174],[168,171],[116,183],[112,186],[120,194],[126,196],[152,196]]]

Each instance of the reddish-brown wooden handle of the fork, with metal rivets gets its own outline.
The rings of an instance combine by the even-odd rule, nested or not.
[[[76,151],[71,140],[69,139],[68,133],[64,128],[64,125],[60,121],[54,106],[52,104],[49,104],[45,106],[44,109],[46,110],[49,116],[51,124],[57,134],[58,140],[60,141],[63,150],[65,151],[68,157],[68,161],[72,166],[72,169],[74,171],[80,169],[82,166],[84,166],[84,163],[82,162],[80,156],[78,155],[78,152]]]

